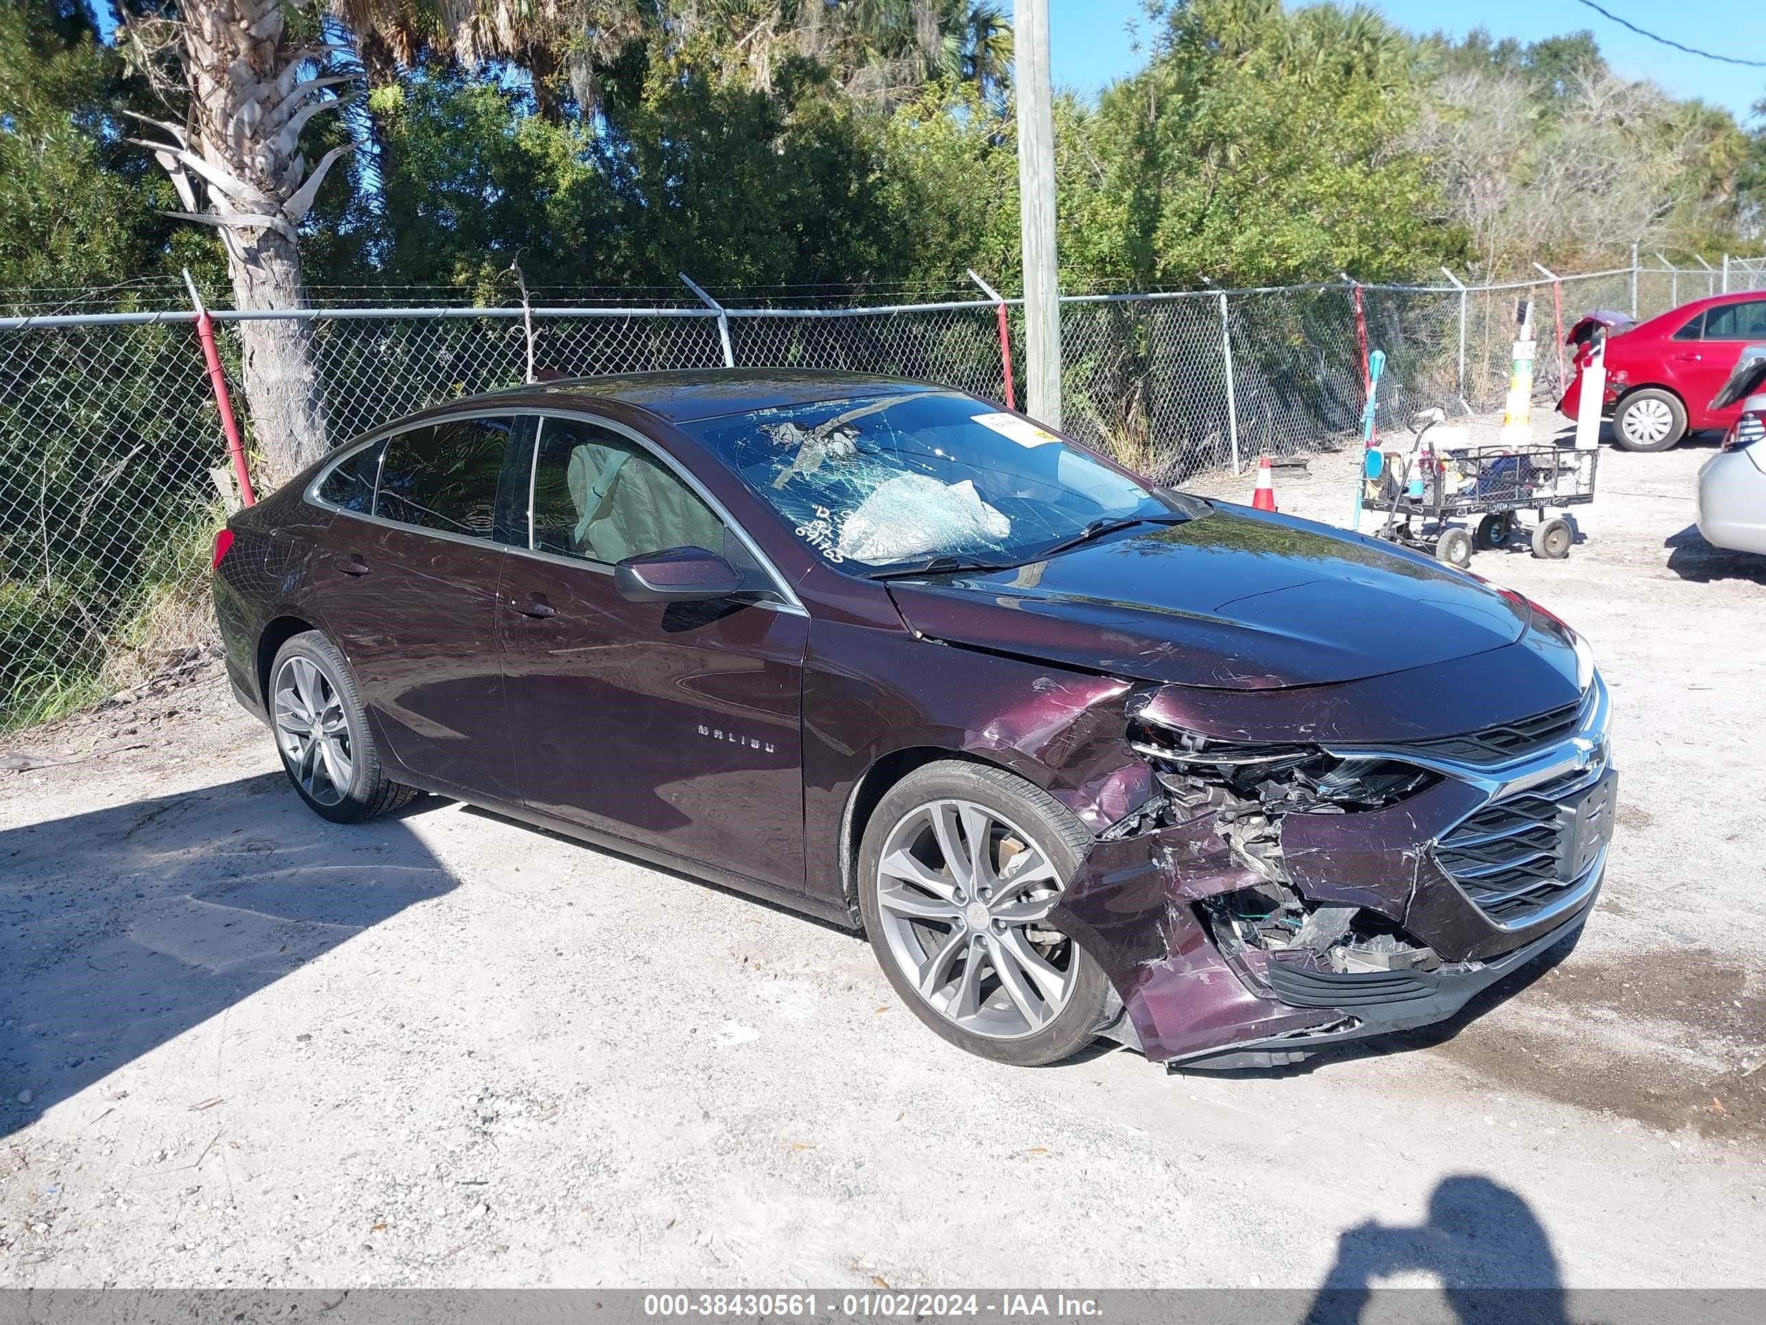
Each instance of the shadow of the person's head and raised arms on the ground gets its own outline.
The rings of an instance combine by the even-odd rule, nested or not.
[[[1303,1325],[1358,1325],[1374,1281],[1406,1272],[1436,1276],[1462,1325],[1568,1321],[1558,1256],[1533,1208],[1501,1184],[1455,1175],[1436,1185],[1422,1224],[1344,1230]]]

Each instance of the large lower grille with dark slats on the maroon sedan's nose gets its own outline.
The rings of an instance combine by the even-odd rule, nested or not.
[[[1436,860],[1492,920],[1513,926],[1581,882],[1591,867],[1566,860],[1577,800],[1605,767],[1572,768],[1492,800],[1436,844]]]

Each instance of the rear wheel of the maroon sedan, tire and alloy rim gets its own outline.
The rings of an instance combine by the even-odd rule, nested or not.
[[[358,823],[417,795],[380,767],[350,664],[318,631],[302,631],[277,650],[267,698],[283,772],[314,814]]]

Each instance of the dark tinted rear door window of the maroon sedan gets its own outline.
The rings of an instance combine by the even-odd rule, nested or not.
[[[496,528],[512,419],[450,419],[387,438],[374,514],[470,539]]]

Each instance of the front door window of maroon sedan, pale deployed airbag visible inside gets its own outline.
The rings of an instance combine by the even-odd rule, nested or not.
[[[636,442],[577,419],[542,419],[533,546],[608,565],[664,548],[724,551],[724,523]]]

